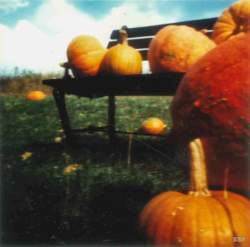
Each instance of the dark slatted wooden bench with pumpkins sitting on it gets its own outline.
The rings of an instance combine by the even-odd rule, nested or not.
[[[216,18],[184,21],[154,26],[127,28],[129,45],[140,51],[143,60],[147,60],[147,50],[153,36],[162,27],[170,24],[189,25],[197,30],[206,29],[211,32]],[[124,27],[123,27],[124,28]],[[108,48],[118,43],[119,30],[114,30],[110,36]],[[65,67],[64,77],[60,79],[48,79],[43,83],[53,87],[53,95],[58,108],[59,117],[66,139],[71,139],[75,132],[106,131],[110,140],[114,140],[117,131],[115,128],[115,97],[116,96],[171,96],[174,95],[183,73],[169,72],[164,74],[141,74],[127,76],[104,76],[72,78],[69,68]],[[73,94],[80,97],[97,98],[108,96],[108,122],[104,127],[87,127],[73,129],[70,125],[65,96]]]

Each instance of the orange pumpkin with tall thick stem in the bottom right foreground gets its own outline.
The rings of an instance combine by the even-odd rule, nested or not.
[[[157,246],[249,247],[250,203],[233,192],[209,191],[199,139],[190,147],[190,191],[162,192],[146,204],[140,229]]]

